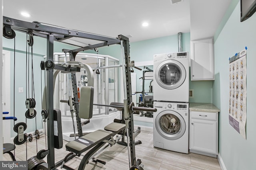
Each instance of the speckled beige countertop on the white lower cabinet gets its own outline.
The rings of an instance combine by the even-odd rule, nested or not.
[[[189,103],[190,111],[219,112],[220,109],[211,103]]]

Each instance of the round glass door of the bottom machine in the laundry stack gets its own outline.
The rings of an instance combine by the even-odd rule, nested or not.
[[[165,139],[176,140],[182,137],[186,130],[183,117],[172,110],[165,110],[156,115],[156,131]]]

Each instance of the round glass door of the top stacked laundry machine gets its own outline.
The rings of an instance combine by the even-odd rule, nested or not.
[[[176,60],[166,60],[158,65],[155,72],[156,82],[164,89],[180,87],[186,79],[185,67]]]

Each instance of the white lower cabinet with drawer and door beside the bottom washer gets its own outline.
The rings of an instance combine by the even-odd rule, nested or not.
[[[190,152],[218,154],[218,112],[190,111]]]

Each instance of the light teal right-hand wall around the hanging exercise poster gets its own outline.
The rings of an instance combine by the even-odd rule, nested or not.
[[[232,3],[237,3],[234,0]],[[220,108],[219,152],[227,170],[255,170],[256,161],[256,14],[240,22],[240,2],[226,21],[214,43],[215,81],[213,104]],[[229,61],[228,58],[247,46],[247,99],[246,139],[228,122],[229,108]]]

